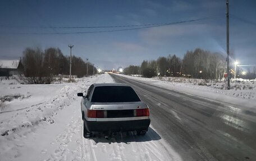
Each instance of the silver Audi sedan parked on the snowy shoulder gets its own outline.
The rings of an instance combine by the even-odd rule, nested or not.
[[[127,84],[93,84],[81,100],[84,137],[92,132],[136,131],[145,135],[150,124],[148,105]]]

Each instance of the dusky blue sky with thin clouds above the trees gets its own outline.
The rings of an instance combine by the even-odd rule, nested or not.
[[[202,48],[226,56],[226,1],[37,1],[0,0],[0,58],[22,57],[27,47],[60,48],[103,70],[140,65],[169,54],[183,58]],[[240,65],[256,64],[256,1],[230,0],[230,51]],[[61,28],[162,24],[135,27]],[[33,34],[31,34],[33,33]],[[69,34],[51,34],[69,33]],[[76,33],[76,34],[70,34]]]

